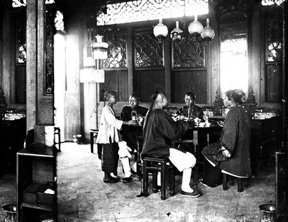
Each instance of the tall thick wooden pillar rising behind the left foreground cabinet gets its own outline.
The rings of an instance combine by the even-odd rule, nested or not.
[[[45,95],[45,0],[27,0],[27,130],[53,125],[53,95]]]

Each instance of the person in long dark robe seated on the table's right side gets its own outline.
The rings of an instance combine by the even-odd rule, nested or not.
[[[218,171],[235,177],[251,177],[250,165],[250,119],[241,105],[245,99],[242,90],[228,90],[224,106],[230,108],[224,121],[221,137],[217,143],[202,151],[204,157]],[[215,175],[216,173],[214,173]],[[216,186],[217,178],[206,173],[202,183]],[[213,175],[211,175],[213,176]],[[221,173],[219,174],[221,176]]]

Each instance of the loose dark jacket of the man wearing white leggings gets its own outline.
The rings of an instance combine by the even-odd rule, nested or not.
[[[173,121],[167,112],[159,109],[152,110],[145,120],[142,158],[145,156],[169,157],[171,140],[182,138],[189,129],[184,121]]]

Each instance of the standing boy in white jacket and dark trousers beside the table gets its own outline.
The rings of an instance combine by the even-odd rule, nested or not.
[[[117,95],[115,91],[108,90],[104,94],[108,105],[103,108],[101,113],[99,133],[97,135],[96,143],[101,145],[101,168],[104,171],[104,182],[109,184],[114,184],[119,181],[117,176],[117,167],[119,160],[119,145],[121,142],[121,135],[119,130],[122,125],[132,124],[133,121],[120,121],[116,118],[115,112],[113,110],[113,105],[117,103]],[[125,153],[125,145],[121,143],[121,153]],[[124,150],[124,151],[123,151]],[[127,151],[126,151],[127,153]],[[129,162],[128,162],[129,164]],[[123,178],[123,182],[126,182],[129,178]]]

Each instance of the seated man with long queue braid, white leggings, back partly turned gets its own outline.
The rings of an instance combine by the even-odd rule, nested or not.
[[[167,97],[165,93],[157,92],[152,95],[152,106],[145,117],[143,127],[143,151],[142,158],[169,158],[171,163],[181,172],[182,197],[199,197],[199,190],[191,188],[191,172],[196,164],[196,159],[192,153],[182,151],[169,145],[170,139],[180,139],[189,129],[189,124],[184,122],[184,116],[180,121],[173,121],[171,116],[163,109],[167,107]],[[152,109],[154,106],[154,109]]]

